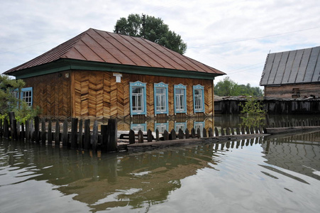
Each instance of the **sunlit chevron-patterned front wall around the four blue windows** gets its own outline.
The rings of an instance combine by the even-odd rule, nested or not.
[[[123,118],[130,116],[130,82],[146,83],[147,116],[154,117],[154,83],[168,84],[169,115],[174,112],[174,85],[187,86],[187,114],[194,116],[193,85],[204,86],[204,107],[207,116],[213,115],[212,80],[197,80],[179,77],[160,77],[122,73],[121,82],[116,82],[113,72],[72,71],[72,116]],[[203,113],[201,113],[203,115]]]

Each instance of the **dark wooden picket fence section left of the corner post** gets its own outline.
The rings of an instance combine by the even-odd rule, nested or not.
[[[26,124],[19,124],[14,113],[9,113],[9,121],[0,120],[0,138],[11,138],[26,143],[48,143],[56,147],[77,148],[79,150],[117,151],[117,121],[109,119],[108,125],[101,125],[98,131],[98,122],[94,121],[93,130],[90,129],[90,120],[67,119],[59,121],[40,121],[36,116]]]

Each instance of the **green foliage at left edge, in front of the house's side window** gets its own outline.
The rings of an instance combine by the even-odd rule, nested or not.
[[[12,80],[7,75],[0,75],[0,119],[9,119],[9,112],[14,111],[16,120],[25,123],[26,120],[40,114],[40,107],[33,109],[16,94],[21,93],[25,86],[23,80]]]

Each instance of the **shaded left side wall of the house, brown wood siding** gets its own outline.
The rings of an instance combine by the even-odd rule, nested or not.
[[[48,117],[71,116],[70,72],[57,72],[23,79],[33,87],[33,107],[39,106]]]

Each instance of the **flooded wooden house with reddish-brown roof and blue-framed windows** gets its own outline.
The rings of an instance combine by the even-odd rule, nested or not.
[[[224,72],[143,38],[93,28],[4,72],[43,116],[123,118],[214,114]]]

